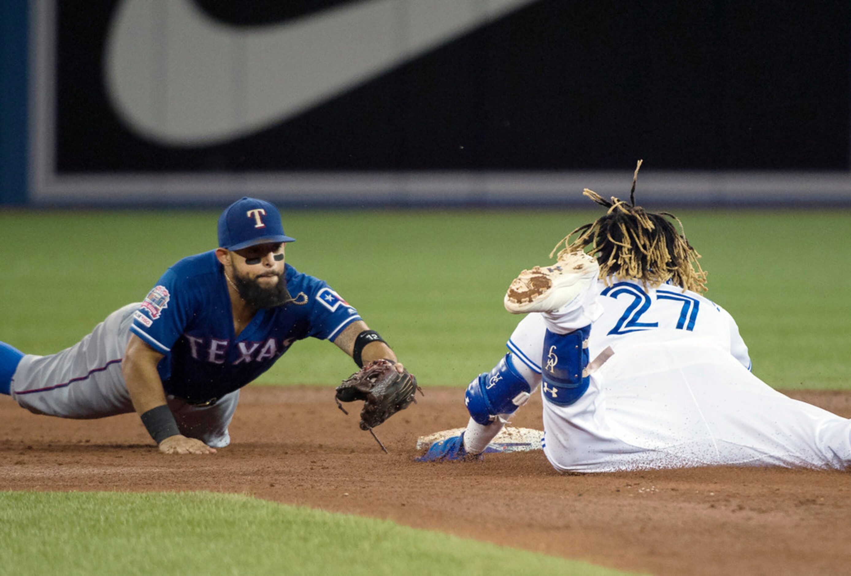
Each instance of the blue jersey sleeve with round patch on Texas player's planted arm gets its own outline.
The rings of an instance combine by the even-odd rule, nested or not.
[[[193,315],[192,300],[186,283],[169,268],[135,311],[130,332],[168,354]]]

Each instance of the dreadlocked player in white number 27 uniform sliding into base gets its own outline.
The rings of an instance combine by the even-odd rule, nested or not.
[[[508,354],[468,386],[465,431],[420,460],[480,458],[540,385],[544,453],[557,470],[848,469],[851,420],[751,374],[733,317],[700,294],[700,255],[671,214],[635,206],[634,191],[635,180],[627,203],[585,190],[608,213],[564,238],[556,264],[511,283],[505,308],[528,316]]]

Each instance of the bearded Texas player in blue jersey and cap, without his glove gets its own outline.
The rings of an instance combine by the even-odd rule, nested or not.
[[[286,264],[294,238],[270,202],[243,197],[218,225],[219,248],[181,259],[144,301],[113,312],[50,356],[0,342],[0,392],[63,418],[137,412],[163,453],[230,443],[239,389],[297,340],[328,339],[359,366],[403,365],[328,284]]]

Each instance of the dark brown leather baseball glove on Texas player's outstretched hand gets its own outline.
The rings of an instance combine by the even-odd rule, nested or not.
[[[411,402],[416,402],[416,391],[423,393],[408,370],[400,374],[390,360],[374,360],[343,380],[337,386],[334,400],[346,414],[340,402],[363,400],[361,430],[371,431],[399,410],[408,408]]]

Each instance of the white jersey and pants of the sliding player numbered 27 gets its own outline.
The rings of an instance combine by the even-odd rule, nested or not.
[[[600,281],[556,313],[524,317],[508,348],[537,374],[533,388],[546,356],[545,330],[589,323],[588,390],[557,406],[547,401],[555,391],[541,389],[544,451],[557,470],[851,465],[851,420],[752,375],[728,312],[671,285]]]

